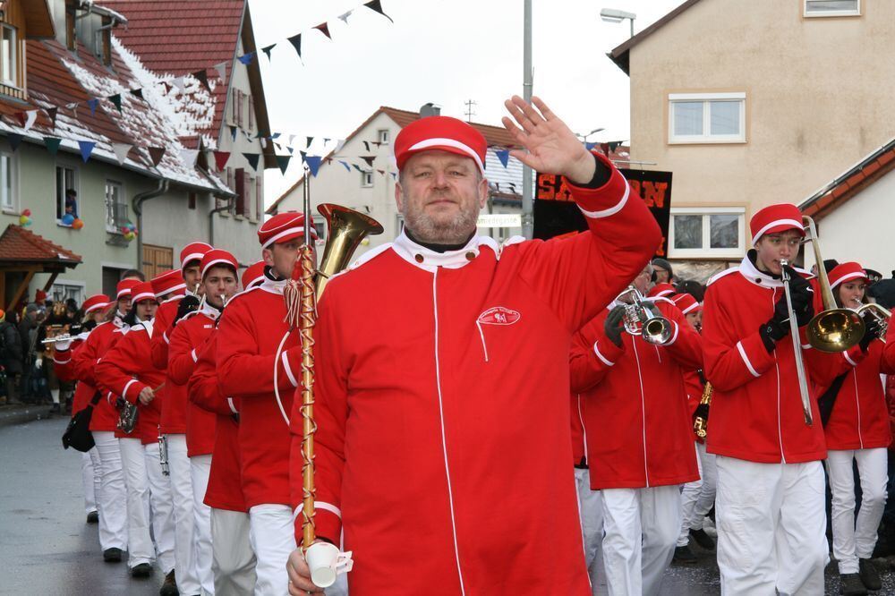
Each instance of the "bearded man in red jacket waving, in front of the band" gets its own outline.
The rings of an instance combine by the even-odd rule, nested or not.
[[[512,155],[564,175],[589,232],[503,247],[476,236],[487,143],[462,121],[422,118],[394,145],[404,232],[320,301],[315,521],[321,540],[340,544],[344,530],[353,593],[591,592],[569,469],[570,338],[661,234],[611,162],[533,103],[506,103],[527,149]],[[292,593],[319,592],[301,550],[290,580]]]

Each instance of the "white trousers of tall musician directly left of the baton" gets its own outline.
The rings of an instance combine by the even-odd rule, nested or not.
[[[295,526],[288,505],[265,504],[249,509],[249,536],[255,551],[256,596],[286,596],[286,560],[295,549]]]

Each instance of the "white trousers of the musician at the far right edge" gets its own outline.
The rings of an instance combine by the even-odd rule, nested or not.
[[[861,479],[861,509],[855,520],[855,476],[852,461],[857,462]],[[827,473],[832,493],[833,557],[840,574],[857,574],[858,558],[870,558],[876,546],[876,531],[886,505],[886,449],[828,451]]]

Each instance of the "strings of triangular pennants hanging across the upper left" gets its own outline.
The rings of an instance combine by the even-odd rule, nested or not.
[[[347,25],[348,19],[359,8],[368,8],[371,11],[373,11],[375,13],[379,13],[382,16],[386,17],[388,19],[388,21],[391,21],[393,23],[395,22],[383,10],[381,0],[369,0],[368,2],[359,4],[356,8],[346,11],[345,13],[339,14],[337,16],[337,21],[342,21],[345,23],[345,25]],[[312,27],[311,30],[300,31],[300,32],[294,34],[293,36],[286,38],[286,40],[294,48],[294,51],[298,55],[300,61],[303,62],[303,59],[302,59],[302,36],[303,36],[303,34],[309,33],[312,30],[317,30],[317,31],[320,31],[321,34],[325,35],[328,39],[331,40],[332,34],[329,30],[329,23],[331,21],[332,20],[323,21],[319,25],[315,25],[314,27]],[[271,59],[270,58],[271,50],[273,50],[274,47],[277,47],[278,43],[279,42],[269,44],[268,46],[265,46],[265,47],[261,47],[261,52],[263,52],[264,55],[268,56],[268,60]],[[256,58],[257,54],[258,54],[257,51],[249,52],[247,54],[236,56],[236,60],[238,60],[241,64],[248,66]],[[211,86],[209,84],[208,71],[209,70],[216,71],[217,79],[219,81],[221,81],[221,84],[226,84],[226,66],[227,66],[227,64],[228,64],[227,61],[221,62],[218,64],[213,64],[212,66],[209,66],[206,68],[201,68],[195,72],[191,72],[189,75],[183,75],[183,76],[176,77],[174,79],[173,86],[170,83],[168,83],[167,81],[158,81],[158,82],[165,86],[166,93],[170,92],[170,90],[173,87],[176,87],[177,89],[180,89],[181,91],[183,91],[183,89],[185,88],[185,85],[186,85],[186,77],[192,76],[194,79],[199,81],[201,83],[201,85],[205,89],[207,89],[210,93]],[[128,89],[128,92],[134,98],[144,100],[142,88]],[[30,129],[34,125],[34,123],[37,121],[38,112],[44,112],[47,114],[47,117],[50,119],[53,129],[55,129],[56,117],[57,117],[60,109],[71,111],[75,115],[75,117],[77,117],[78,108],[81,107],[82,105],[86,104],[86,106],[90,109],[90,115],[92,116],[92,115],[96,115],[97,108],[100,105],[100,102],[103,100],[106,100],[109,103],[111,103],[112,106],[114,106],[115,109],[118,110],[119,114],[122,113],[122,92],[119,92],[119,93],[115,93],[113,95],[103,97],[103,98],[90,98],[83,102],[72,102],[72,103],[68,103],[65,105],[59,105],[59,106],[40,107],[40,108],[36,108],[36,109],[23,110],[21,112],[14,113],[11,116],[11,118],[14,121],[18,122],[20,124],[21,128],[24,129],[25,132],[28,132],[28,131],[30,131]],[[233,135],[233,140],[235,140],[236,139],[236,127],[231,126],[230,128],[231,128],[231,133]],[[249,133],[246,132],[246,135],[249,136],[249,138],[251,139],[251,135],[249,135]],[[13,149],[13,151],[15,151],[16,149],[19,148],[19,146],[21,145],[21,141],[24,140],[24,137],[25,137],[25,135],[18,133],[18,132],[8,132],[6,134],[6,136],[7,136],[7,140],[9,142],[10,148]],[[260,139],[262,146],[264,146],[265,140],[273,140],[273,139],[276,139],[278,136],[279,136],[278,133],[269,134],[267,132],[263,132],[263,133],[259,132],[259,134],[255,138]],[[56,152],[59,150],[59,147],[63,141],[62,138],[54,137],[54,136],[45,136],[45,137],[43,137],[43,140],[44,140],[44,144],[45,144],[47,150],[53,155],[55,155]],[[90,159],[90,155],[93,153],[93,149],[96,148],[97,143],[98,143],[98,140],[91,140],[91,139],[66,139],[66,140],[75,140],[77,142],[78,148],[81,152],[81,158],[83,159],[83,161],[85,163]],[[120,165],[124,165],[125,158],[127,158],[128,153],[134,147],[138,147],[140,149],[145,149],[149,155],[149,160],[152,162],[153,166],[158,166],[158,164],[161,162],[162,158],[166,154],[166,148],[164,148],[164,147],[143,147],[141,145],[134,145],[134,144],[130,144],[130,143],[115,143],[115,142],[113,142],[111,144],[112,144],[113,152],[115,153],[115,158],[117,159],[117,161]],[[182,149],[181,150],[181,158],[183,159],[183,161],[185,162],[185,164],[187,166],[191,166],[191,167],[195,166],[196,159],[198,158],[200,150],[201,150],[201,148],[200,149]],[[276,156],[277,157],[277,165],[280,167],[280,170],[283,171],[284,173],[286,171],[286,166],[288,165],[289,159],[292,157],[292,149],[291,148],[290,148],[289,152],[290,152],[290,155],[288,155],[288,156]],[[215,162],[216,162],[216,165],[218,165],[221,163],[220,158],[226,152],[215,151],[214,153],[215,153],[215,156],[214,156]],[[229,153],[226,153],[226,156],[229,157]],[[257,169],[258,162],[260,159],[260,153],[254,153],[254,154],[243,153],[243,156],[249,161],[250,165],[252,166],[252,169]],[[309,158],[310,157],[311,156],[309,156]],[[224,164],[226,164],[226,161],[224,161]],[[220,169],[223,169],[223,166],[218,166],[218,170],[220,170]]]

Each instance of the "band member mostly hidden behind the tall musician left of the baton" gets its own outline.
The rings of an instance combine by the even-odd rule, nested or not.
[[[243,288],[264,282],[264,261],[243,271]],[[220,320],[218,318],[218,320]],[[189,396],[192,404],[217,414],[205,504],[211,507],[212,569],[217,596],[239,596],[255,588],[255,553],[249,540],[249,513],[240,481],[239,398],[228,399],[217,384],[217,328],[198,350]]]

